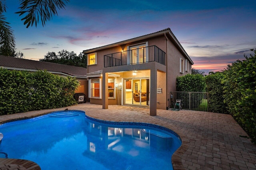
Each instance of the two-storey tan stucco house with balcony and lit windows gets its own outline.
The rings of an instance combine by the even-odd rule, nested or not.
[[[170,108],[176,77],[194,64],[170,28],[83,51],[88,55],[91,104]]]

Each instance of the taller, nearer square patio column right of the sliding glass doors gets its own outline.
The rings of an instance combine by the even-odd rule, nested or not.
[[[150,116],[156,116],[156,107],[157,107],[157,69],[150,69]]]

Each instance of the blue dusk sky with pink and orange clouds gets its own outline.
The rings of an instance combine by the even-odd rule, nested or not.
[[[70,0],[42,27],[26,28],[19,0],[6,0],[6,20],[24,59],[83,50],[170,28],[194,65],[216,72],[256,48],[256,0]]]

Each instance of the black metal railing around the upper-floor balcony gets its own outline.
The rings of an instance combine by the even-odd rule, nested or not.
[[[118,53],[104,55],[104,67],[140,64],[155,61],[165,65],[166,53],[156,45],[131,49]]]

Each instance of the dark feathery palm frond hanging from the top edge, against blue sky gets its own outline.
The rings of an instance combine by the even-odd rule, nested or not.
[[[21,20],[28,28],[30,25],[37,26],[41,20],[42,26],[46,21],[52,19],[52,16],[58,15],[57,10],[65,9],[69,0],[20,0],[20,11],[16,12],[19,16],[24,16]]]

